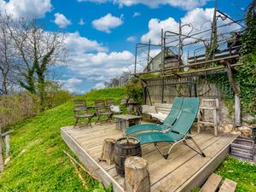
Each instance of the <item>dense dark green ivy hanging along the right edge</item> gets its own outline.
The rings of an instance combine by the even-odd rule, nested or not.
[[[256,115],[256,1],[247,8],[246,29],[241,36],[241,58],[236,67],[236,82],[240,85],[243,112]]]

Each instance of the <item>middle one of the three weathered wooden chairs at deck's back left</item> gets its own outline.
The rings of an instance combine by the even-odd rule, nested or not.
[[[108,101],[108,103],[110,103]],[[106,121],[111,121],[113,113],[110,111],[109,107],[106,104],[106,100],[98,99],[95,100],[95,108],[96,108],[96,123],[100,121],[101,117],[106,115],[108,119]]]

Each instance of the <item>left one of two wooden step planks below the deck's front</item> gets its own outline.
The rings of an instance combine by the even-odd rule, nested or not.
[[[201,188],[201,192],[215,192],[222,180],[222,177],[212,173],[212,175],[207,179],[207,182]]]

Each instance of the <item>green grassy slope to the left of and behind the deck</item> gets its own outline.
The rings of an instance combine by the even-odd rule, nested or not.
[[[124,88],[93,90],[79,98],[89,104],[100,98],[119,102]],[[73,101],[50,109],[11,127],[11,161],[0,177],[0,191],[91,191],[98,182],[85,177],[84,188],[73,165],[63,153],[68,150],[62,141],[61,126],[73,125]]]

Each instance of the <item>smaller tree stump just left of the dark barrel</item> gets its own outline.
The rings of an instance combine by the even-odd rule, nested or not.
[[[102,146],[102,157],[100,160],[106,161],[108,165],[113,164],[113,151],[114,151],[114,144],[116,143],[116,140],[113,138],[106,138],[104,140],[103,146]]]

